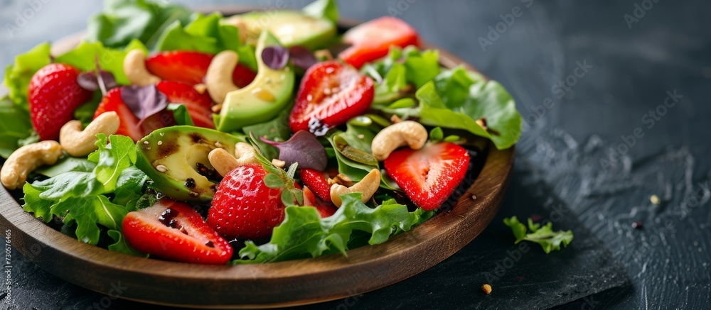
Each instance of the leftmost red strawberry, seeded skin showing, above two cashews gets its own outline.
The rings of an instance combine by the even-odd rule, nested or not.
[[[70,65],[50,64],[36,72],[28,87],[32,126],[41,140],[56,140],[59,129],[74,118],[77,106],[92,92],[77,83],[81,72]]]

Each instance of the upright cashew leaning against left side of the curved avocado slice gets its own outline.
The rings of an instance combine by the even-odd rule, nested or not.
[[[213,101],[222,104],[228,92],[240,89],[232,82],[232,72],[235,71],[240,56],[232,50],[225,50],[215,55],[210,62],[208,73],[205,74],[205,86]]]

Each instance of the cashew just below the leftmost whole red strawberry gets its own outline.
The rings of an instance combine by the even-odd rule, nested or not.
[[[69,155],[84,157],[97,150],[96,135],[113,135],[119,130],[119,115],[116,112],[101,114],[82,131],[82,122],[69,121],[59,131],[59,144]]]

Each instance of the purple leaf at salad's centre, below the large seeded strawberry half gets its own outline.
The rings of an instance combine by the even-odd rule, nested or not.
[[[298,131],[287,142],[274,142],[262,138],[264,143],[274,145],[279,149],[279,160],[287,165],[299,162],[299,167],[324,171],[328,162],[328,155],[324,145],[319,143],[316,135],[308,131]]]

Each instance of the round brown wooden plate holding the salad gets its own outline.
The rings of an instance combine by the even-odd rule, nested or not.
[[[245,10],[220,11],[229,15]],[[79,39],[74,35],[61,40],[53,51],[68,50]],[[440,57],[444,67],[466,65],[443,50]],[[336,254],[237,266],[135,258],[53,230],[23,211],[4,188],[0,190],[0,231],[9,229],[11,244],[44,270],[111,297],[199,308],[264,308],[341,299],[417,275],[449,258],[486,228],[503,199],[514,157],[513,148],[488,149],[479,177],[451,211],[386,243],[349,250],[348,257]],[[125,289],[119,292],[114,287]]]

